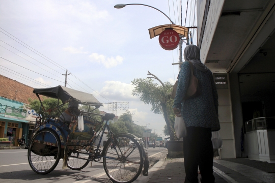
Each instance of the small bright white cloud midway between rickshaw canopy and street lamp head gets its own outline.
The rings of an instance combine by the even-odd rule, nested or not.
[[[91,62],[103,64],[105,68],[112,68],[119,64],[122,64],[123,62],[123,57],[119,55],[116,56],[116,58],[114,58],[113,56],[110,58],[106,57],[103,54],[92,53],[91,55],[89,55],[89,58]]]

